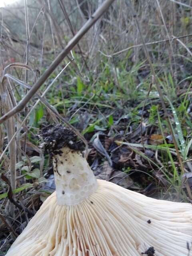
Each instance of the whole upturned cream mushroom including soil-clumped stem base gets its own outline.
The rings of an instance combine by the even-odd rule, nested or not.
[[[192,205],[149,198],[96,180],[76,135],[42,129],[56,192],[42,204],[6,256],[184,256],[192,242]]]

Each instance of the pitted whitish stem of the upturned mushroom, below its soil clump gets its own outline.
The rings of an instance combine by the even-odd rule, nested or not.
[[[97,180],[80,151],[68,147],[53,157],[57,202],[59,205],[79,204],[95,192]]]

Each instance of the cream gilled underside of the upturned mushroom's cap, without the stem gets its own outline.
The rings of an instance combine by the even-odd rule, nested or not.
[[[156,200],[98,180],[89,198],[73,206],[49,196],[6,256],[188,255],[192,205]],[[144,254],[146,255],[146,254]]]

